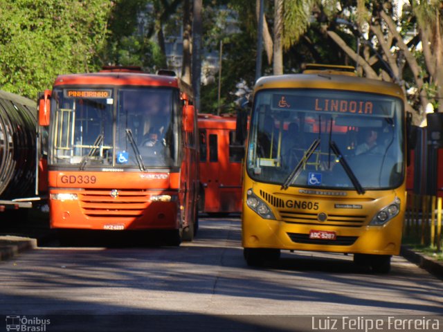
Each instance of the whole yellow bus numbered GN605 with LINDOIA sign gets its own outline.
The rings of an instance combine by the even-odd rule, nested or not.
[[[243,174],[249,266],[278,260],[280,250],[311,250],[352,253],[356,264],[388,273],[399,255],[404,93],[347,70],[257,80]]]

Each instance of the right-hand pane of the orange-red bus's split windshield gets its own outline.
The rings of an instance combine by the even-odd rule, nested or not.
[[[177,165],[179,127],[174,118],[178,116],[179,97],[174,92],[178,93],[155,88],[119,90],[116,126],[119,165],[141,168]]]

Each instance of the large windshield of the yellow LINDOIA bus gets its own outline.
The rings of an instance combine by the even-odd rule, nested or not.
[[[404,179],[402,103],[374,93],[272,89],[255,95],[247,169],[286,189],[377,190]]]

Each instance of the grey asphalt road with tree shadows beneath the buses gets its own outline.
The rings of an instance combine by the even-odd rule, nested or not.
[[[45,331],[314,331],[314,315],[443,317],[442,281],[402,257],[389,275],[318,252],[249,268],[238,218],[201,218],[179,248],[78,236],[0,262],[2,315],[48,317]]]

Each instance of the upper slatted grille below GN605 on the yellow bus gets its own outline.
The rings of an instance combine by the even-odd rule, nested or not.
[[[287,210],[280,210],[278,212],[282,221],[300,225],[326,225],[356,228],[361,227],[366,220],[366,216],[363,215],[345,216],[341,214],[328,214],[325,221],[319,221],[317,213],[293,212]]]

